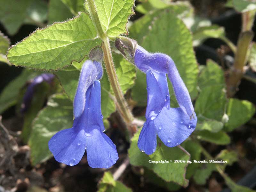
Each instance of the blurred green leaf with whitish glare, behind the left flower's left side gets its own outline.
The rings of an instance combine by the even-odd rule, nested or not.
[[[48,149],[48,141],[58,131],[71,128],[73,124],[73,106],[63,94],[53,95],[32,124],[28,140],[33,165],[52,157]]]

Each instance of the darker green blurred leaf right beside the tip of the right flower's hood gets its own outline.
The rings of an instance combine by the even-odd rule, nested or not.
[[[204,87],[196,100],[195,112],[197,116],[221,121],[225,112],[227,98],[223,85]]]

